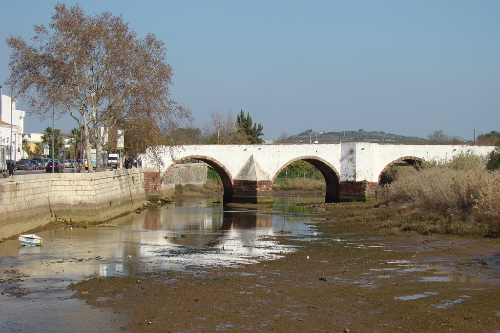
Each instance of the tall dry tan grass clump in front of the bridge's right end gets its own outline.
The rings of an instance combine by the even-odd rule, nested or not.
[[[384,186],[379,199],[388,206],[406,208],[411,218],[399,216],[401,225],[403,220],[419,216],[439,225],[438,230],[444,232],[474,233],[465,230],[474,225],[474,230],[482,233],[486,225],[490,232],[498,233],[500,226],[500,172],[487,171],[485,160],[476,155],[461,154],[448,161],[424,163],[418,172]],[[429,216],[443,218],[430,221]]]

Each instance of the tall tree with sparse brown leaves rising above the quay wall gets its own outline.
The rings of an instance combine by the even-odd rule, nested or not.
[[[90,148],[100,151],[104,143],[101,126],[123,129],[132,146],[130,138],[149,146],[163,141],[163,121],[191,119],[170,99],[172,69],[154,34],[138,39],[121,16],[86,16],[80,6],[60,3],[48,28],[35,25],[34,32],[32,45],[7,39],[10,80],[40,117],[52,108],[71,115],[82,128],[87,160]]]

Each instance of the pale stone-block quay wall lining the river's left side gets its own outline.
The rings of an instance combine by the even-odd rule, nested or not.
[[[205,164],[179,164],[163,175],[161,183],[156,168],[10,176],[0,182],[0,239],[56,218],[68,222],[109,220],[143,206],[147,194],[173,194],[174,182],[204,184],[203,170],[206,181]],[[189,173],[193,181],[189,181]]]

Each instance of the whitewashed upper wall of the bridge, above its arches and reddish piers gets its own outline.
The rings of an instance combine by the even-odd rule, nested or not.
[[[394,145],[346,142],[336,144],[287,145],[189,145],[164,147],[160,156],[163,165],[154,158],[143,157],[143,166],[164,172],[185,158],[204,156],[217,161],[232,179],[253,155],[262,171],[273,180],[283,166],[297,159],[312,158],[327,162],[339,175],[340,181],[378,181],[383,169],[403,157],[421,160],[446,160],[460,153],[486,155],[493,146],[471,145]]]

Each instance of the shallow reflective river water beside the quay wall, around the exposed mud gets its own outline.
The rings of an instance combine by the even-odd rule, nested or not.
[[[39,232],[39,247],[0,243],[0,332],[122,332],[122,315],[69,299],[66,287],[88,277],[235,266],[295,251],[279,239],[306,240],[317,232],[306,224],[316,209],[294,203],[323,197],[274,200],[259,211],[224,209],[216,197],[176,202],[109,222],[114,228]]]

